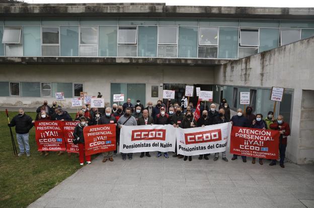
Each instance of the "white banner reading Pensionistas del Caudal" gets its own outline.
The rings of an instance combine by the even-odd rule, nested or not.
[[[176,129],[178,154],[192,156],[226,151],[229,146],[230,122],[204,127]]]

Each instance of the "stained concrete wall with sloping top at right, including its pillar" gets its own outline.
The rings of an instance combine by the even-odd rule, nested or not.
[[[314,38],[309,38],[215,67],[215,84],[294,89],[292,129],[286,155],[299,164],[313,158],[314,153],[312,149],[306,155],[301,154],[299,133],[302,90],[314,90],[313,54]],[[312,142],[310,140],[313,138],[302,141]]]

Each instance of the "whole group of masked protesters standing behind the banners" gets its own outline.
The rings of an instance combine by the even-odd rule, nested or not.
[[[47,100],[44,100],[43,105],[39,106],[36,110],[37,116],[35,120],[46,121],[46,120],[60,120],[60,121],[72,121],[71,116],[67,111],[62,109],[61,106],[57,105],[56,101],[52,102],[52,106],[48,105]],[[241,108],[237,110],[237,115],[230,116],[230,108],[226,99],[222,99],[221,103],[217,107],[216,104],[211,103],[210,108],[201,102],[199,106],[200,117],[195,119],[196,109],[193,103],[188,103],[188,99],[183,96],[181,103],[172,103],[166,106],[162,100],[158,100],[155,106],[152,102],[148,102],[147,106],[144,107],[140,100],[136,101],[136,105],[131,103],[131,99],[128,98],[127,102],[123,105],[113,104],[112,108],[107,107],[104,109],[91,108],[90,105],[83,105],[81,110],[78,110],[74,120],[79,121],[73,131],[74,139],[78,143],[78,149],[80,154],[80,164],[84,165],[84,134],[83,129],[88,125],[98,124],[115,124],[116,128],[116,147],[119,145],[120,140],[120,129],[123,125],[134,126],[134,125],[151,125],[160,124],[166,125],[171,124],[178,128],[194,128],[207,125],[221,124],[231,122],[233,126],[247,127],[247,128],[258,128],[258,129],[273,129],[280,131],[279,138],[279,155],[280,155],[280,166],[284,167],[285,150],[287,146],[287,136],[290,135],[289,124],[284,122],[283,116],[278,115],[277,119],[274,118],[274,112],[269,111],[267,117],[260,113],[254,114],[253,108],[247,106],[245,112]],[[29,130],[34,125],[34,120],[25,114],[24,110],[19,109],[19,114],[16,115],[9,126],[16,127],[17,141],[19,144],[20,153],[22,156],[26,153],[30,156],[29,146]],[[63,154],[63,151],[58,152],[58,155]],[[40,154],[48,155],[48,152],[41,152]],[[70,153],[68,153],[70,155]],[[132,153],[121,153],[122,159],[126,160],[126,156],[129,160],[132,159]],[[117,148],[115,151],[103,152],[103,162],[107,160],[113,161],[113,157],[117,156]],[[149,152],[141,152],[140,157],[150,157]],[[158,152],[156,157],[161,157],[162,152]],[[192,156],[186,156],[177,154],[177,147],[172,155],[173,157],[183,158],[184,161],[192,160]],[[199,155],[198,159],[209,159],[210,154]],[[226,158],[226,152],[221,152],[222,160],[228,161]],[[164,157],[169,158],[168,152],[164,152]],[[241,156],[243,162],[247,162],[247,156]],[[213,160],[216,161],[219,158],[219,153],[214,153]],[[236,160],[238,155],[233,154],[231,160]],[[91,163],[91,157],[86,156],[87,163]],[[256,159],[252,158],[252,163],[255,164]],[[275,165],[276,160],[272,160],[269,165]],[[259,163],[263,165],[263,159],[259,158]]]

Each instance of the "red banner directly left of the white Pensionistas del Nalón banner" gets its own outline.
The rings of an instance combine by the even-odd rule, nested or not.
[[[86,155],[116,150],[115,124],[87,126],[83,133]]]

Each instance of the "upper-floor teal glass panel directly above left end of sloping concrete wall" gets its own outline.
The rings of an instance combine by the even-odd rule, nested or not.
[[[218,58],[237,59],[238,58],[238,28],[219,28]]]

